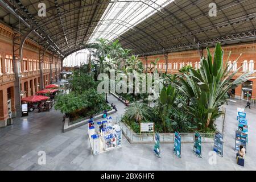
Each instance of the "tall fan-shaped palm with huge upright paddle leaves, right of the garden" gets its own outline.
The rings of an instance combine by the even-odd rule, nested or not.
[[[205,106],[206,110],[202,117],[207,118],[207,121],[205,121],[206,129],[209,125],[212,126],[213,121],[216,118],[215,116],[221,113],[221,111],[218,111],[218,107],[226,102],[225,95],[228,90],[233,86],[240,85],[243,82],[254,78],[249,77],[255,72],[252,71],[245,72],[236,80],[231,81],[241,67],[232,72],[234,64],[231,67],[227,67],[226,64],[224,64],[223,57],[224,51],[221,50],[220,43],[216,44],[214,61],[212,60],[209,48],[207,48],[207,59],[203,57],[201,60],[201,68],[197,71],[190,68],[189,74],[184,73],[185,77],[181,78],[182,86],[177,85],[181,92],[183,92],[188,98],[194,98],[197,102],[196,104],[201,102]],[[229,57],[230,53],[228,60]],[[201,97],[205,97],[205,99]],[[207,117],[205,117],[205,115],[207,115]]]

